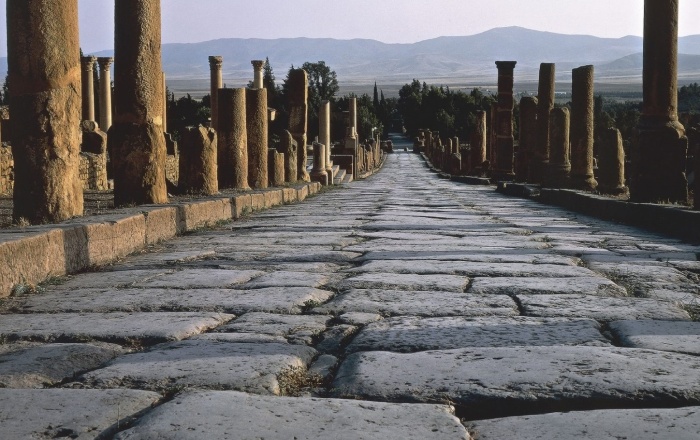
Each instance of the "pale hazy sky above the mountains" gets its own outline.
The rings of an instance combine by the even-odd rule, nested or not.
[[[118,1],[118,0],[117,0]],[[0,56],[7,56],[0,0]],[[114,0],[79,0],[85,53],[111,49]],[[369,38],[412,43],[495,27],[600,37],[642,35],[643,0],[162,0],[163,42]],[[681,0],[681,36],[700,34],[700,1]]]

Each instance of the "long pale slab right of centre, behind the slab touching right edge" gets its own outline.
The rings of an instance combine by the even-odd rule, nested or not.
[[[613,298],[595,295],[516,295],[526,316],[590,318],[598,321],[654,319],[690,321],[677,304],[652,298]]]

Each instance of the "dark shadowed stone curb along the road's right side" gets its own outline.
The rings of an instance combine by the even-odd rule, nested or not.
[[[572,189],[537,190],[536,187],[516,183],[499,184],[498,191],[560,206],[591,217],[700,242],[700,211],[692,211],[687,207],[634,203]]]

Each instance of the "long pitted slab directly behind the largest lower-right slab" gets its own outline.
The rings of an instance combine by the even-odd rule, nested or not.
[[[410,353],[466,347],[610,346],[592,319],[526,317],[387,318],[366,326],[348,352]]]

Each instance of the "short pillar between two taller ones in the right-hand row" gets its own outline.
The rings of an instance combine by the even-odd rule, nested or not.
[[[549,172],[542,185],[550,188],[566,188],[571,173],[571,149],[569,144],[569,109],[554,108],[549,113]]]

